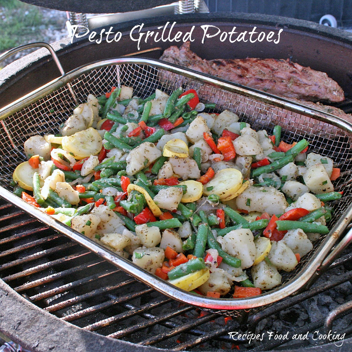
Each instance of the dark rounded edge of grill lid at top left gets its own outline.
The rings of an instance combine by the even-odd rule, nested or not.
[[[171,4],[170,0],[21,0],[27,4],[78,13],[116,13]]]

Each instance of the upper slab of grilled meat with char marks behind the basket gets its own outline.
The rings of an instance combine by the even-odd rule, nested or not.
[[[338,102],[345,99],[342,88],[326,73],[278,59],[202,60],[184,43],[171,46],[161,60],[213,75],[264,92],[307,101]]]

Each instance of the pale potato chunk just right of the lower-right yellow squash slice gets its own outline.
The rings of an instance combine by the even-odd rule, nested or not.
[[[272,241],[268,258],[279,270],[292,271],[298,264],[295,253],[282,240]]]

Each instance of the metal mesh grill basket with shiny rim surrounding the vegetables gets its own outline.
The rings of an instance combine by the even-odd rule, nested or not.
[[[341,169],[341,177],[334,186],[336,190],[344,191],[344,197],[332,204],[334,217],[329,224],[333,227],[332,231],[314,243],[312,252],[303,257],[294,272],[283,275],[278,288],[247,299],[215,299],[176,289],[14,196],[9,184],[15,167],[26,160],[23,149],[25,140],[35,134],[57,133],[59,124],[72,114],[77,103],[86,101],[88,94],[99,96],[112,86],[119,85],[132,86],[134,95],[141,98],[151,95],[156,88],[168,93],[180,86],[184,89],[194,88],[203,102],[216,103],[215,111],[233,111],[254,129],[265,128],[270,134],[273,127],[280,124],[287,142],[306,138],[310,143],[310,151],[332,158],[336,167]],[[0,119],[0,196],[158,291],[216,312],[235,315],[238,309],[262,307],[301,289],[315,274],[352,218],[350,124],[285,99],[159,61],[122,58],[77,68],[0,110]]]

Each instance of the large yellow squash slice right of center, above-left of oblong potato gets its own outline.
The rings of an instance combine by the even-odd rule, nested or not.
[[[230,200],[242,186],[242,174],[237,169],[222,169],[204,185],[204,194],[217,194],[221,200]]]

